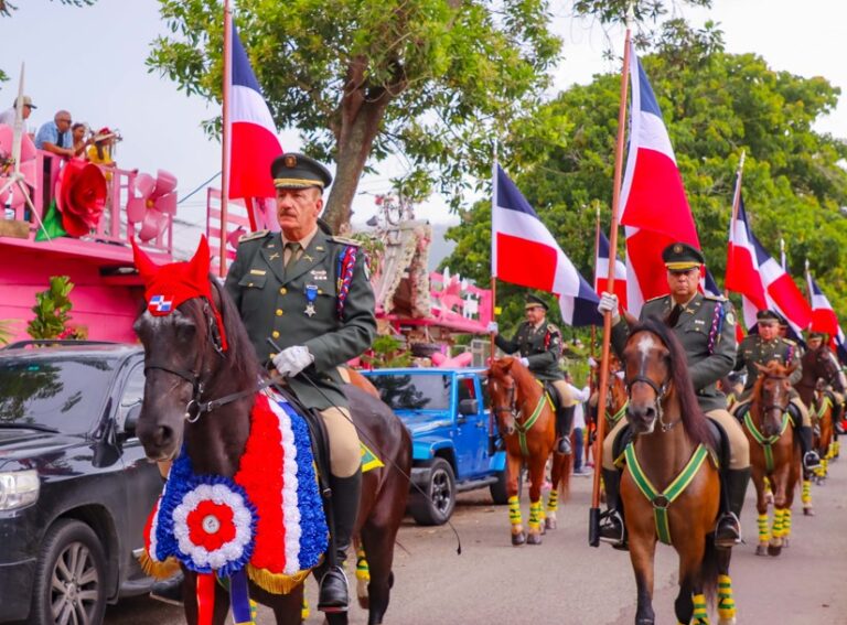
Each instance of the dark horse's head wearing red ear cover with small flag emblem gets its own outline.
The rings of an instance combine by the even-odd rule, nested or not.
[[[246,333],[208,273],[205,237],[191,261],[161,267],[132,245],[147,302],[133,325],[144,347],[147,378],[137,432],[148,459],[171,460],[186,438],[186,424],[212,411],[210,400],[255,387],[258,366],[239,349]]]

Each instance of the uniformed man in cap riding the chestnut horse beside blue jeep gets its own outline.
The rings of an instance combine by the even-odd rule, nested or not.
[[[569,454],[570,429],[573,425],[575,406],[565,381],[565,374],[559,368],[561,358],[561,332],[547,323],[547,302],[529,294],[526,297],[526,321],[517,326],[512,341],[497,334],[497,323],[491,322],[489,331],[494,333],[494,342],[506,354],[521,354],[521,364],[527,367],[542,381],[549,381],[559,394],[559,408],[556,410],[557,451]]]

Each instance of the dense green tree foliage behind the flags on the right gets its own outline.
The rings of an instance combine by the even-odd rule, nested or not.
[[[836,310],[847,306],[847,143],[814,129],[834,110],[839,89],[821,77],[773,69],[755,54],[728,54],[714,24],[665,24],[642,58],[671,134],[709,268],[726,269],[727,231],[742,150],[743,194],[751,227],[772,255],[787,247],[789,270],[806,258]],[[594,214],[608,231],[620,76],[575,86],[508,128],[503,165],[589,280]],[[448,233],[446,261],[487,283],[491,212],[486,203]],[[621,237],[622,238],[622,237]],[[621,245],[621,250],[623,246]],[[797,281],[802,285],[802,281]],[[519,316],[521,289],[498,291],[506,325]]]

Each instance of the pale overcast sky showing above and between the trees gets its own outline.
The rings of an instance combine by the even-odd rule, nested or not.
[[[200,127],[216,110],[200,98],[186,97],[174,83],[149,74],[144,66],[151,42],[165,31],[156,0],[97,0],[82,9],[49,0],[17,4],[20,10],[12,18],[0,19],[0,63],[11,77],[0,87],[0,109],[11,105],[20,64],[25,62],[25,93],[39,107],[30,118],[31,129],[52,119],[60,108],[95,129],[118,128],[124,136],[118,164],[150,173],[169,170],[179,179],[181,195],[219,171],[219,144],[206,139]],[[553,0],[551,4],[570,2]],[[705,19],[719,22],[729,52],[755,52],[774,69],[824,76],[847,91],[844,0],[715,0],[714,4],[710,11],[687,9],[684,14],[697,24]],[[559,88],[588,83],[597,73],[620,71],[602,58],[608,40],[601,29],[568,20],[564,10],[560,15],[556,24],[565,41],[565,58],[556,72]],[[622,32],[610,35],[620,52]],[[845,137],[847,106],[841,103],[818,129]],[[300,148],[296,131],[280,138],[286,150]],[[357,220],[373,213],[373,194],[388,191],[388,179],[396,172],[385,168],[362,181],[354,204]],[[199,193],[183,203],[179,216],[205,224],[205,195]],[[419,208],[419,216],[454,219],[438,198]]]

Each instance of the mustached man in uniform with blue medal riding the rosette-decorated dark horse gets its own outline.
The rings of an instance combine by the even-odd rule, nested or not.
[[[344,560],[362,472],[358,437],[336,367],[371,347],[376,334],[374,292],[357,244],[319,228],[323,190],[332,181],[326,168],[303,154],[287,153],[274,161],[271,175],[281,233],[243,238],[225,285],[259,360],[271,362],[300,401],[323,417],[336,554],[335,564],[330,558],[322,575],[318,608],[340,612],[349,604]]]

